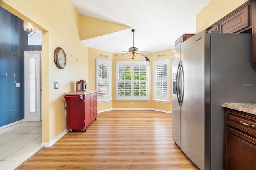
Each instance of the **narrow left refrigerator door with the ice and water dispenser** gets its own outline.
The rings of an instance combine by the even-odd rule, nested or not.
[[[180,102],[178,100],[178,65],[180,45],[172,50],[172,138],[180,147]]]

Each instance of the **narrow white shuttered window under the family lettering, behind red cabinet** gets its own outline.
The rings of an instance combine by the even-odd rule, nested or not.
[[[112,100],[111,81],[111,61],[96,59],[96,90],[98,91],[98,102]]]

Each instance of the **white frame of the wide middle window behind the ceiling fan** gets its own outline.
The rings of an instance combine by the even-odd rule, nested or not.
[[[145,96],[119,96],[118,95],[118,72],[119,72],[119,65],[130,65],[133,68],[134,65],[144,65],[146,66],[146,95]],[[133,70],[132,70],[133,72]],[[116,61],[116,101],[149,101],[149,65],[147,61]],[[133,82],[133,79],[130,80]],[[133,93],[133,87],[131,89],[131,94]]]

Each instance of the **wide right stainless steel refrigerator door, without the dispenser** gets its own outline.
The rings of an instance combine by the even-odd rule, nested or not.
[[[183,152],[204,170],[204,32],[180,45],[184,71],[184,99],[181,107],[181,146]]]

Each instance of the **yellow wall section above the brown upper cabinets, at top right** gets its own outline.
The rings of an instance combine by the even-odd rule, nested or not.
[[[247,0],[212,0],[196,15],[196,32],[200,32],[244,4]]]

